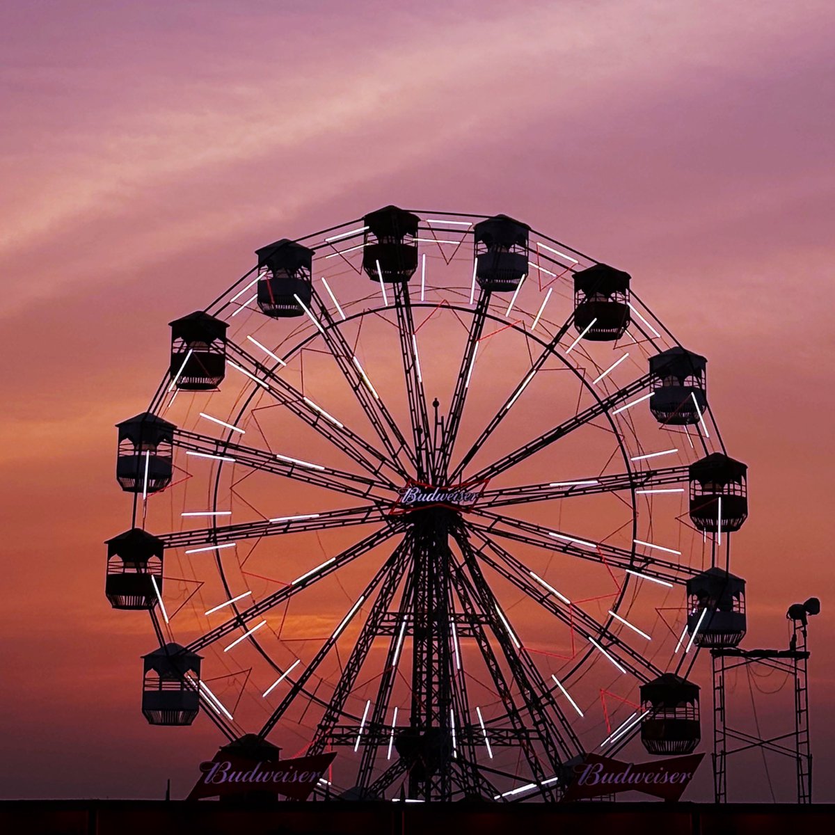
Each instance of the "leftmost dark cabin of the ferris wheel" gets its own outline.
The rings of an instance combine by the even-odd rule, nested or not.
[[[139,528],[107,540],[104,595],[114,609],[150,610],[157,605],[162,594],[163,550],[161,539]]]

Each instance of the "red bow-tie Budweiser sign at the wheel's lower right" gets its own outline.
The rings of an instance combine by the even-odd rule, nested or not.
[[[574,767],[574,781],[564,800],[584,800],[615,792],[644,792],[675,801],[690,783],[704,754],[689,754],[655,762],[620,762],[609,757],[587,754]]]

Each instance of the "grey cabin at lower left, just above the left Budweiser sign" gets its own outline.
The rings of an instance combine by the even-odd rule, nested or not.
[[[166,644],[143,656],[142,713],[149,725],[190,725],[200,709],[200,655]]]

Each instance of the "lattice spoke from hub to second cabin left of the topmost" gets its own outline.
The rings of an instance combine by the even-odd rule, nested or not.
[[[335,448],[342,449],[368,473],[385,483],[387,487],[395,486],[392,478],[382,472],[382,468],[387,467],[397,473],[398,478],[400,476],[399,470],[386,453],[382,453],[373,447],[365,438],[357,435],[337,417],[326,412],[309,397],[305,397],[303,392],[279,377],[272,368],[258,362],[255,357],[252,357],[235,342],[227,340],[226,346],[230,353],[235,356],[235,359],[240,362],[246,376],[254,376],[258,381],[256,384],[261,384],[261,387],[264,387],[264,390],[272,399],[286,407],[296,417],[301,418]]]

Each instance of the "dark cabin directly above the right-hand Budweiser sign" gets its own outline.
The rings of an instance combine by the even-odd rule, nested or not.
[[[640,686],[640,741],[650,754],[690,754],[701,740],[699,686],[664,673]]]

